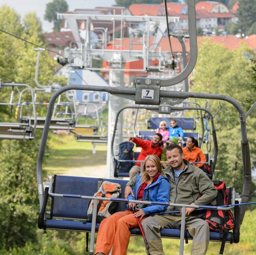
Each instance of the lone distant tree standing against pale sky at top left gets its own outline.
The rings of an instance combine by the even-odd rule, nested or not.
[[[57,13],[68,11],[68,4],[65,0],[53,0],[46,4],[45,20],[54,24],[54,31],[59,31],[61,27],[61,20],[57,20]]]

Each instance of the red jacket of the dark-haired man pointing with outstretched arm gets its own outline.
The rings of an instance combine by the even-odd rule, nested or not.
[[[160,157],[162,154],[163,148],[160,145],[153,145],[153,140],[148,141],[134,137],[133,142],[142,148],[137,160],[144,160],[147,157],[147,155],[151,154],[154,154],[158,157]],[[136,162],[136,165],[140,167],[140,162]]]

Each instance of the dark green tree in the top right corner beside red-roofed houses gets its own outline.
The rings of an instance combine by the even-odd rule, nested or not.
[[[256,0],[239,1],[236,16],[239,18],[238,27],[245,36],[249,36],[250,27],[256,22]]]

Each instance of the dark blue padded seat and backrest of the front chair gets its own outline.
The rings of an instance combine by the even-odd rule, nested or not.
[[[47,205],[49,199],[48,187],[45,188],[45,193],[38,217],[38,228],[44,230],[55,229],[91,232],[92,223],[83,223],[84,219],[87,217],[87,209],[90,200],[81,199],[79,197],[80,195],[93,196],[94,193],[98,190],[99,181],[101,183],[105,180],[118,182],[121,185],[122,192],[120,194],[120,198],[123,199],[127,180],[54,175],[52,193],[63,194],[63,196],[52,196],[52,199],[49,201],[51,205]],[[70,194],[72,194],[73,197],[71,197]],[[77,195],[77,197],[74,197],[74,195]],[[46,210],[47,206],[51,208],[50,212]],[[239,207],[236,206],[236,208]],[[126,210],[126,203],[119,202],[116,212],[124,210]],[[239,214],[239,211],[235,211],[235,217],[236,214]],[[99,225],[100,224],[96,224],[96,232],[98,232]],[[131,235],[141,235],[139,228],[132,228],[130,229],[130,232]],[[161,237],[176,239],[179,239],[181,234],[179,229],[168,228],[162,229],[160,233]],[[192,239],[188,232],[187,234],[188,239]],[[236,235],[239,235],[239,231],[236,232]],[[220,233],[210,231],[210,240],[220,241]],[[239,242],[239,236],[233,238],[233,232],[229,232],[226,242],[232,243],[233,241]]]

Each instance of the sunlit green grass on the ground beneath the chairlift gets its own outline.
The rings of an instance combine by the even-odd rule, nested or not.
[[[70,169],[82,169],[88,167],[104,166],[106,164],[106,146],[96,146],[96,154],[92,154],[92,144],[87,142],[76,142],[73,135],[54,135],[48,143],[49,150],[46,152],[44,168],[48,174],[67,174]],[[226,243],[224,255],[256,255],[256,210],[247,210],[243,224],[241,225],[241,236],[238,244]],[[179,240],[162,239],[166,255],[179,254]],[[192,241],[184,244],[184,255],[190,254]],[[219,242],[211,242],[207,255],[218,255]],[[146,254],[142,237],[131,237],[127,255]],[[196,255],[196,254],[195,254]]]

